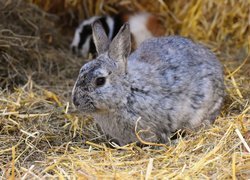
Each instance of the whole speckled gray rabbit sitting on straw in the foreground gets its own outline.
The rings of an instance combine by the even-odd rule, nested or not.
[[[81,68],[72,96],[105,134],[125,145],[138,141],[137,126],[144,141],[167,143],[176,130],[214,122],[223,102],[223,71],[208,49],[169,36],[148,39],[130,55],[129,24],[112,42],[100,22],[92,29],[98,57]]]

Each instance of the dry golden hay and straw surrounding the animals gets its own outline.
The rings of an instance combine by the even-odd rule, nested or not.
[[[32,2],[57,15],[20,0],[0,1],[1,178],[250,177],[249,1]],[[110,148],[91,119],[75,112],[70,93],[84,60],[70,54],[72,37],[62,28],[72,14],[80,19],[117,7],[157,13],[166,34],[189,36],[218,55],[228,95],[210,129],[160,147]],[[62,17],[69,21],[55,23]]]

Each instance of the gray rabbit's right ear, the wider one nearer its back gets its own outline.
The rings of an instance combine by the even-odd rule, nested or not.
[[[115,61],[122,62],[126,66],[126,58],[131,50],[131,35],[129,24],[125,23],[109,46],[109,57]],[[125,64],[124,64],[125,63]]]

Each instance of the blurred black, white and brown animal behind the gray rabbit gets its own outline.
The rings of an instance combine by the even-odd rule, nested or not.
[[[102,23],[110,40],[115,37],[124,22],[129,22],[133,38],[133,48],[138,47],[145,39],[164,34],[164,28],[159,17],[153,14],[121,13],[115,16],[93,16],[84,20],[76,29],[73,41],[70,45],[74,54],[83,57],[87,57],[89,53],[96,55],[91,28],[92,23],[96,20]]]

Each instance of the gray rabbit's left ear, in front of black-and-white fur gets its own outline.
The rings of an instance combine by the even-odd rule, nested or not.
[[[99,20],[92,24],[93,39],[98,54],[104,53],[108,50],[110,40],[107,37],[105,30]]]

